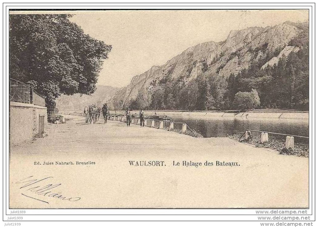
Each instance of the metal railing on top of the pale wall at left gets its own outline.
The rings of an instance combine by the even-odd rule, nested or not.
[[[29,85],[10,78],[9,88],[10,101],[31,103],[45,107],[45,99]]]

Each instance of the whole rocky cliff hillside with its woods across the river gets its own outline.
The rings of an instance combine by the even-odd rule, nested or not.
[[[134,76],[110,103],[116,109],[153,109],[155,100],[160,109],[236,109],[235,94],[253,88],[260,107],[308,109],[308,34],[308,22],[232,30],[223,42],[190,47]]]

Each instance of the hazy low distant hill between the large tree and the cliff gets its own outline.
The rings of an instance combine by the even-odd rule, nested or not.
[[[96,91],[92,95],[61,95],[55,101],[56,107],[59,110],[83,110],[85,106],[92,104],[101,107],[112,94],[119,90],[119,88],[101,85],[97,85],[96,88]]]

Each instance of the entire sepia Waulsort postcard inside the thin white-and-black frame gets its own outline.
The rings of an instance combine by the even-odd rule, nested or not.
[[[308,209],[308,9],[9,11],[9,208]]]

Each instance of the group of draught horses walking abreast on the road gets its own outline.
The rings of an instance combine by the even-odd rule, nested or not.
[[[86,118],[86,123],[90,122],[95,124],[99,121],[100,114],[103,114],[104,124],[107,123],[107,118],[110,115],[109,108],[107,107],[107,103],[104,103],[103,107],[97,107],[95,104],[90,105],[84,108],[84,114]]]

